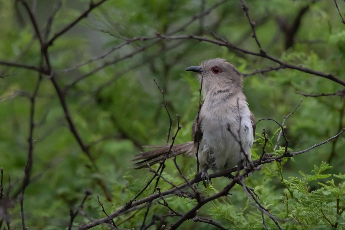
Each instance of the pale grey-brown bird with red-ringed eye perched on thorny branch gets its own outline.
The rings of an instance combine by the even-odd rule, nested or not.
[[[243,163],[250,166],[255,137],[255,117],[243,93],[240,72],[225,59],[215,58],[191,66],[186,71],[198,73],[203,90],[203,104],[192,126],[193,141],[159,147],[136,155],[136,168],[159,163],[183,154],[194,156],[198,150],[201,179],[209,183],[208,169],[223,171]],[[198,148],[199,145],[199,148]]]

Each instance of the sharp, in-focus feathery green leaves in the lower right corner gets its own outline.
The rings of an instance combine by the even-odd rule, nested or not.
[[[276,171],[274,166],[275,164],[266,165],[266,168],[270,169],[262,171],[262,179],[259,181],[261,186],[255,188],[255,193],[260,197],[259,202],[276,217],[280,227],[291,230],[345,228],[345,175],[322,174],[332,168],[322,162],[320,167],[314,166],[314,175],[300,172],[302,178],[289,177],[288,180],[283,180],[286,188],[272,194],[270,189],[264,188],[272,189],[273,181],[267,178],[272,178],[271,172]],[[336,184],[334,179],[331,179],[325,183],[318,182],[320,188],[309,187],[309,181],[329,177],[340,179],[339,183]],[[248,181],[247,186],[250,183],[252,182]],[[249,201],[240,207],[231,202],[236,200],[234,198],[238,193],[245,196],[243,189],[237,188],[232,191],[230,198],[212,202],[208,209],[210,216],[221,220],[227,229],[264,229],[260,211],[253,208]],[[277,228],[267,216],[265,222],[268,229]]]

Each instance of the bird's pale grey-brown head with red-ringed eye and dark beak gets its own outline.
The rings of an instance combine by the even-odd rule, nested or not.
[[[238,70],[225,59],[216,58],[201,62],[200,66],[191,66],[186,71],[197,72],[198,79],[203,79],[204,94],[242,91],[242,78]]]

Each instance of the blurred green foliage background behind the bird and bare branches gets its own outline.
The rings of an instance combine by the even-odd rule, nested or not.
[[[28,3],[34,8],[42,34],[58,9],[49,38],[88,9],[89,4],[86,0],[63,0],[60,6],[53,0]],[[213,7],[218,3],[221,4]],[[248,0],[246,3],[250,18],[256,23],[257,37],[267,53],[296,66],[344,79],[345,25],[333,1]],[[338,1],[338,6],[345,12],[343,1]],[[209,13],[203,13],[208,9],[211,9]],[[301,13],[293,43],[287,47],[288,30]],[[39,66],[40,44],[22,4],[0,0],[0,21],[0,60]],[[186,24],[188,22],[191,23]],[[108,0],[55,40],[48,49],[56,73],[54,77],[65,92],[72,120],[82,140],[90,146],[99,170],[95,171],[80,149],[49,76],[43,76],[35,103],[31,182],[24,199],[29,229],[66,229],[69,207],[75,210],[86,190],[91,190],[92,195],[84,204],[84,211],[97,219],[104,217],[97,196],[111,213],[145,186],[151,174],[147,169],[132,169],[131,160],[140,151],[147,150],[142,146],[164,145],[169,130],[168,115],[161,106],[163,99],[153,79],[164,90],[167,108],[174,119],[172,134],[177,130],[175,114],[180,116],[182,129],[175,143],[183,143],[191,140],[191,125],[199,102],[199,83],[195,74],[184,71],[186,67],[217,57],[234,64],[242,73],[277,66],[265,58],[193,39],[141,39],[118,48],[128,39],[155,37],[156,33],[194,34],[215,39],[211,32],[238,47],[258,52],[240,1]],[[97,59],[107,52],[108,55]],[[0,75],[7,76],[0,79],[0,166],[4,170],[4,192],[9,192],[11,197],[20,188],[24,175],[30,125],[28,96],[36,87],[38,73],[2,64]],[[285,123],[289,147],[294,151],[338,133],[344,125],[345,108],[343,97],[304,98],[296,92],[321,94],[342,89],[343,86],[328,79],[291,69],[244,79],[244,93],[256,119],[268,117],[282,122],[303,98],[301,106]],[[261,121],[256,132],[262,133],[265,129],[272,136],[277,128],[272,121]],[[283,139],[280,142],[283,146]],[[254,144],[253,150],[257,154],[262,151],[259,144]],[[322,161],[333,166],[327,173],[344,173],[344,138],[293,160],[284,165],[285,178],[298,176],[299,170],[310,172]],[[178,163],[186,175],[193,178],[195,159],[180,157]],[[171,161],[167,162],[165,173],[176,183],[183,182]],[[248,183],[252,187],[260,186],[264,179],[256,172],[248,178]],[[106,189],[99,186],[99,181]],[[216,189],[222,189],[228,179],[218,178],[213,183]],[[267,184],[269,194],[279,194],[284,187],[274,178]],[[313,186],[318,184],[315,182]],[[112,201],[107,201],[105,190]],[[152,191],[153,187],[142,197]],[[231,202],[240,206],[246,199],[243,190],[237,188]],[[14,200],[19,198],[14,197]],[[176,205],[188,210],[193,202],[180,199]],[[19,203],[14,201],[9,211],[12,228],[21,228]],[[119,227],[139,229],[144,211],[136,213],[137,219],[127,220]],[[117,223],[127,217],[120,217]],[[74,228],[84,222],[88,222],[85,215],[79,215]],[[185,224],[186,229],[194,225],[198,229],[210,228],[193,221]]]

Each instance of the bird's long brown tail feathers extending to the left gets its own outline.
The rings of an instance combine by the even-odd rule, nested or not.
[[[184,154],[186,156],[191,155],[194,150],[194,143],[193,141],[189,141],[183,144],[176,144],[172,146],[171,150],[170,146],[159,147],[157,149],[143,152],[136,155],[136,159],[133,161],[139,161],[134,164],[136,169],[141,169],[147,167],[147,164],[152,165],[159,163],[164,160],[164,158],[170,158],[174,156],[178,156],[180,154]]]

